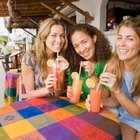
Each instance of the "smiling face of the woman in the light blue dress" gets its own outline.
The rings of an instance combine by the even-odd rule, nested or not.
[[[117,54],[125,62],[134,62],[140,51],[140,38],[136,32],[126,26],[119,29],[116,41]]]

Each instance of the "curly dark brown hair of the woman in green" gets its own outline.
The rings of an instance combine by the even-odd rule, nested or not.
[[[112,54],[112,46],[110,45],[110,42],[105,37],[102,31],[97,29],[94,26],[88,25],[88,24],[78,24],[74,26],[69,34],[69,45],[66,51],[66,59],[70,63],[70,68],[74,69],[76,68],[80,61],[84,60],[80,55],[78,55],[72,45],[71,38],[75,32],[83,32],[93,38],[94,35],[97,36],[97,41],[95,43],[95,54],[93,60],[95,62],[107,60],[110,58]]]

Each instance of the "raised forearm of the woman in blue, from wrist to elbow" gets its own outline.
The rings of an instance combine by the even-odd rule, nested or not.
[[[124,107],[127,112],[129,112],[134,117],[140,117],[140,108],[139,106],[131,101],[123,91],[116,91],[115,96],[122,107]]]

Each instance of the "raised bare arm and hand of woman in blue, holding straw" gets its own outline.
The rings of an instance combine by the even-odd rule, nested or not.
[[[131,101],[121,90],[115,75],[107,72],[103,73],[101,75],[101,84],[110,88],[119,104],[131,115],[134,117],[140,117],[140,97],[137,98],[136,102]]]

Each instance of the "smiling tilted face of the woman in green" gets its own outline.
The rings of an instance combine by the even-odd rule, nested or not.
[[[92,60],[95,53],[96,36],[91,38],[82,31],[76,31],[71,37],[75,51],[84,59]]]

